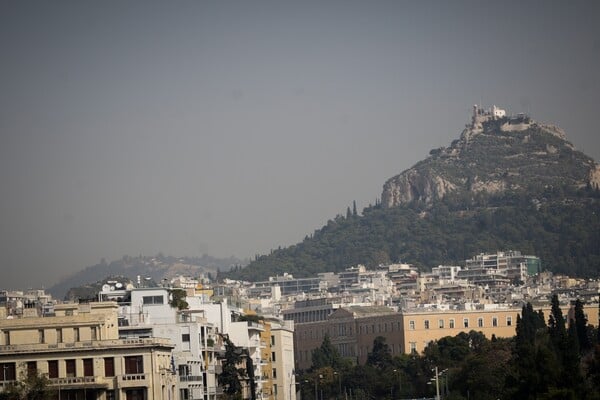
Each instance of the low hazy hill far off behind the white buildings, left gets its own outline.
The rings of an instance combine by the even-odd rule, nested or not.
[[[229,270],[233,266],[246,264],[247,261],[235,257],[215,258],[208,255],[202,257],[173,257],[158,254],[153,257],[123,256],[120,260],[107,263],[102,260],[99,264],[83,270],[50,287],[47,291],[56,298],[64,298],[68,293],[88,293],[86,286],[95,287],[98,282],[104,282],[107,277],[118,276],[137,281],[149,278],[154,282],[170,279],[178,275],[198,277],[201,275],[216,277],[219,270]],[[74,290],[71,290],[74,289]]]

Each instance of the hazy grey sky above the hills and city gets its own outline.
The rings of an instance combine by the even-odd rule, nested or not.
[[[600,159],[597,1],[2,1],[0,288],[294,244],[474,103]]]

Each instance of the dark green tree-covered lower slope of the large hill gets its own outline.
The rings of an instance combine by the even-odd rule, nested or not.
[[[301,243],[258,256],[231,277],[262,280],[284,272],[296,277],[349,266],[407,262],[429,269],[461,265],[481,252],[520,250],[542,267],[596,277],[600,266],[600,198],[596,191],[540,203],[527,196],[462,207],[446,198],[428,209],[414,205],[338,216]]]

